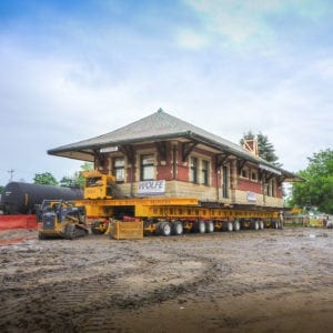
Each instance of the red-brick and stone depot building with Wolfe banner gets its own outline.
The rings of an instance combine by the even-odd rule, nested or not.
[[[282,183],[300,178],[163,110],[110,133],[48,151],[113,174],[124,196],[196,198],[206,205],[282,208]]]

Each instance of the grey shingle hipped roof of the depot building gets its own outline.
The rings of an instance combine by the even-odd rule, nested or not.
[[[244,150],[241,145],[232,143],[231,141],[222,139],[219,135],[212,134],[186,121],[173,117],[161,109],[151,115],[142,118],[115,131],[54,148],[49,150],[48,153],[52,155],[87,160],[87,157],[84,159],[84,155],[91,154],[93,150],[98,150],[103,147],[130,144],[143,141],[170,140],[175,138],[188,138],[190,140],[195,140],[196,142],[208,144],[225,153],[230,153],[238,158],[263,165],[264,168],[275,170],[284,174],[286,178],[297,178],[297,175],[278,168],[259,157],[255,157],[254,154]],[[77,152],[77,154],[73,154],[74,152]]]

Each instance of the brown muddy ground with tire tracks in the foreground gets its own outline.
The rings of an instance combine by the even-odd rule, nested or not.
[[[1,241],[0,332],[332,332],[333,230]]]

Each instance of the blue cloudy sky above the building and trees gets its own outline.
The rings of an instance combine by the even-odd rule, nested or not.
[[[333,142],[330,0],[1,0],[0,184],[82,162],[47,150],[162,108],[290,171]]]

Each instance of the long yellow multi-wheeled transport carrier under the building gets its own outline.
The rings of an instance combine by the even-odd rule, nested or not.
[[[114,178],[99,171],[85,171],[84,199],[91,232],[103,234],[112,221],[143,222],[144,235],[181,235],[185,232],[262,230],[281,228],[280,210],[233,208],[200,202],[194,198],[121,198]]]

